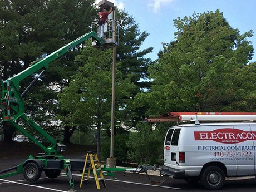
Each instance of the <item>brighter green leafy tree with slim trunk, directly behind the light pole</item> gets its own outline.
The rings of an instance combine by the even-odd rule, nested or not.
[[[71,114],[62,120],[80,130],[97,129],[97,154],[100,155],[100,130],[109,129],[111,119],[112,50],[99,51],[86,46],[75,61],[83,63],[83,67],[59,95],[62,108]],[[116,109],[125,109],[134,88],[117,70]]]

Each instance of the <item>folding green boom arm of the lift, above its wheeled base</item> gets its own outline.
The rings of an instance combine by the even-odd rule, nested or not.
[[[83,43],[88,38],[93,38],[98,45],[102,45],[102,39],[98,37],[95,32],[91,31],[51,53],[31,67],[28,67],[26,70],[2,82],[1,101],[3,106],[3,120],[8,121],[11,125],[16,127],[16,129],[21,131],[23,135],[26,135],[30,140],[35,142],[35,144],[45,152],[45,155],[60,155],[60,151],[56,150],[57,142],[25,114],[23,98],[21,97],[21,93],[19,93],[19,82],[39,70],[45,70],[48,68],[50,62],[61,57],[63,54],[72,50],[80,43]],[[16,122],[18,119],[21,119],[27,125],[32,127],[34,131],[43,136],[50,143],[50,146],[46,147],[42,145],[37,139],[35,139],[35,137],[23,129],[23,127],[19,126]]]

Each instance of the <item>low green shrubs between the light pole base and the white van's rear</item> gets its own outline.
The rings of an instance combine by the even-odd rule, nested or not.
[[[136,131],[122,131],[114,137],[114,157],[117,165],[133,162],[139,165],[163,165],[163,144],[169,124],[137,124]],[[110,155],[110,138],[103,136],[101,157]]]

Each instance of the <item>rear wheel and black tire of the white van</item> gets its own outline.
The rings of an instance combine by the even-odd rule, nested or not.
[[[219,190],[225,184],[225,174],[218,166],[205,168],[200,177],[201,184],[209,190]]]

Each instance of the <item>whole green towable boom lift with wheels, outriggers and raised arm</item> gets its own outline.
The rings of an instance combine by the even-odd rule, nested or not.
[[[118,23],[114,19],[111,22],[115,24],[115,27],[117,27],[118,31]],[[95,23],[92,23],[91,28],[95,28]],[[114,29],[112,28],[111,30]],[[117,37],[119,36],[116,31],[114,33],[110,31],[110,33],[115,34],[115,36]],[[100,50],[104,48],[114,47],[119,44],[119,42],[116,42],[119,40],[119,38],[115,37],[115,41],[109,40],[107,42],[104,42],[104,40],[100,38],[97,33],[91,31],[61,47],[57,51],[36,62],[34,65],[28,67],[26,70],[2,82],[1,104],[3,106],[3,120],[16,127],[16,129],[21,131],[23,135],[26,135],[30,140],[35,142],[35,144],[43,150],[43,154],[40,154],[40,156],[30,155],[29,158],[23,163],[14,166],[13,168],[0,171],[0,179],[23,173],[24,178],[27,181],[36,181],[40,178],[42,171],[45,171],[46,176],[52,179],[57,178],[58,175],[60,175],[61,170],[65,170],[71,191],[75,191],[73,190],[74,181],[71,171],[82,171],[85,160],[64,159],[64,157],[61,156],[61,152],[66,150],[66,146],[58,143],[40,126],[38,126],[31,118],[29,118],[29,116],[25,114],[23,98],[24,96],[26,96],[27,92],[37,81],[37,79],[48,68],[50,62],[61,57],[66,52],[71,51],[77,45],[80,45],[89,38],[92,38],[92,46],[99,48]],[[109,38],[111,39],[111,37]],[[38,77],[32,81],[32,83],[26,88],[23,93],[19,93],[19,82],[40,70],[42,70],[40,75],[38,75]],[[46,147],[41,144],[41,142],[39,142],[35,137],[29,134],[26,129],[19,125],[17,123],[17,120],[23,121],[24,124],[27,124],[29,127],[31,127],[33,131],[37,132],[37,134],[40,134],[43,138],[45,138],[50,143],[50,145]],[[105,169],[103,168],[102,170],[109,171],[111,175],[112,170],[117,171],[118,169],[105,167]],[[12,172],[9,173],[10,171]]]

